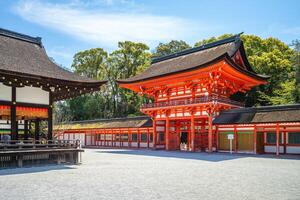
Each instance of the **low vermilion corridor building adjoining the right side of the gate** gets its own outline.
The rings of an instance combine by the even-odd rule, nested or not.
[[[215,120],[218,150],[300,154],[300,104],[239,108],[222,112]]]

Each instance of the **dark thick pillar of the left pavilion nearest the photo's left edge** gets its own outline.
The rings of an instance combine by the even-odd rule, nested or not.
[[[10,107],[10,121],[11,121],[11,139],[12,140],[17,140],[17,108],[16,108],[16,87],[11,88],[11,101],[12,105]]]

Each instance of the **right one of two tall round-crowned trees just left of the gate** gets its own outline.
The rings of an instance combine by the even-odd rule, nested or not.
[[[144,71],[150,65],[149,47],[143,43],[119,42],[119,49],[109,57],[109,86],[112,93],[113,116],[140,115],[143,98],[135,92],[122,89],[117,79],[126,79]]]

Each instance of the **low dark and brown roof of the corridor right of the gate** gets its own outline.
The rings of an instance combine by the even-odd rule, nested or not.
[[[221,112],[214,124],[300,122],[300,104],[238,108]]]

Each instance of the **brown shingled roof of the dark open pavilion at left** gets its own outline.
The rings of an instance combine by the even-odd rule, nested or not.
[[[6,80],[18,79],[18,83],[19,79],[32,81],[28,85],[34,85],[34,82],[38,81],[38,87],[45,85],[45,87],[48,86],[48,89],[50,86],[60,85],[64,88],[67,86],[73,90],[73,93],[75,87],[96,90],[106,82],[79,76],[55,64],[47,56],[40,37],[31,37],[1,28],[0,75]],[[5,83],[3,80],[4,78],[0,79]],[[22,85],[26,85],[26,82],[22,82]],[[54,92],[54,98],[60,99],[62,94],[67,97],[68,92],[64,91],[62,87],[59,92],[58,90]],[[72,89],[72,87],[74,88]]]

